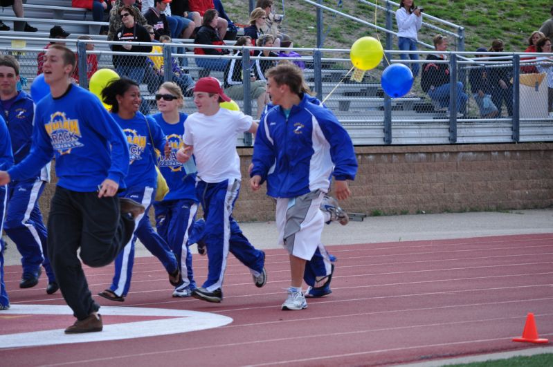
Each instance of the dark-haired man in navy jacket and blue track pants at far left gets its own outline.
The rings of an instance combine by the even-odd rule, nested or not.
[[[33,135],[33,100],[24,91],[17,91],[19,62],[11,55],[0,55],[0,104],[8,123],[15,164],[29,153]],[[46,182],[50,180],[50,164],[39,169],[27,180],[12,181],[8,185],[9,205],[6,209],[6,234],[14,241],[21,254],[23,275],[19,288],[37,285],[40,267],[48,275],[46,292],[58,290],[54,272],[47,256],[47,232],[42,222],[38,200]]]

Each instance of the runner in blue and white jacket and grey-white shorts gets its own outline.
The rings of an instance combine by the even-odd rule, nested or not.
[[[338,199],[351,195],[357,161],[350,136],[331,111],[302,93],[301,70],[281,64],[267,71],[267,88],[275,107],[260,122],[253,151],[250,185],[267,181],[267,194],[276,198],[279,242],[290,254],[291,287],[282,310],[302,310],[305,264],[320,244],[325,218],[320,203],[335,180]]]

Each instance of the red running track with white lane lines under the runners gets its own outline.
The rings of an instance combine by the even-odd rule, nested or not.
[[[0,364],[401,364],[534,348],[534,344],[511,341],[522,335],[527,312],[534,312],[540,337],[553,337],[553,234],[341,245],[328,249],[338,258],[333,293],[308,300],[309,308],[302,311],[280,310],[286,297],[284,288],[289,285],[288,255],[284,250],[266,251],[269,282],[261,289],[255,288],[246,267],[230,256],[224,301],[220,304],[172,298],[161,264],[153,257],[137,258],[132,289],[124,303],[95,296],[103,306],[116,306],[116,312],[104,313],[105,331],[89,334],[110,335],[118,330],[119,337],[126,339],[77,344],[72,343],[73,336],[63,335],[62,331],[73,323],[70,314],[48,314],[52,306],[46,306],[46,314],[17,313],[26,305],[64,302],[59,292],[46,295],[44,276],[37,287],[19,290],[20,267],[8,266],[6,279],[12,310],[0,313],[0,338],[56,330],[55,337],[25,336],[43,344],[55,339],[67,344],[3,348]],[[206,258],[194,256],[195,276],[201,283],[206,277]],[[96,294],[109,285],[113,266],[87,268],[86,272]],[[129,306],[209,312],[233,321],[217,328],[181,332],[176,316],[156,314],[156,310],[145,315],[116,314]],[[109,309],[104,307],[100,313]],[[176,334],[136,338],[137,332],[123,327],[147,320],[151,326],[169,322],[171,326],[165,324],[161,329],[173,329]]]

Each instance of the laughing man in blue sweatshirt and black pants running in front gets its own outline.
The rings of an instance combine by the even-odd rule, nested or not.
[[[98,97],[71,84],[75,53],[53,45],[44,56],[50,86],[35,109],[28,156],[0,171],[0,185],[32,177],[55,156],[58,177],[48,217],[48,256],[57,283],[77,321],[65,332],[102,330],[81,260],[91,267],[114,261],[144,207],[116,196],[125,187],[129,149],[123,131]],[[79,258],[80,257],[80,258]]]

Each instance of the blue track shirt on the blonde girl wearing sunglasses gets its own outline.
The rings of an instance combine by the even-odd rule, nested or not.
[[[165,133],[165,138],[171,147],[169,158],[162,155],[158,159],[159,171],[167,181],[169,192],[163,200],[179,200],[190,199],[197,201],[196,197],[196,173],[188,174],[183,167],[183,164],[176,160],[176,152],[183,147],[184,121],[186,120],[185,113],[179,113],[179,122],[176,124],[168,124],[163,120],[161,113],[152,115],[158,125]]]

